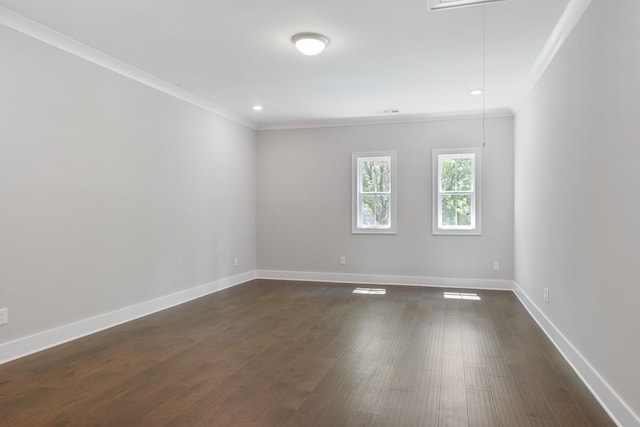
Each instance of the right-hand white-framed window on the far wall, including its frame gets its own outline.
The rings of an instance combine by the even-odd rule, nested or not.
[[[433,150],[433,234],[480,234],[481,149]]]

